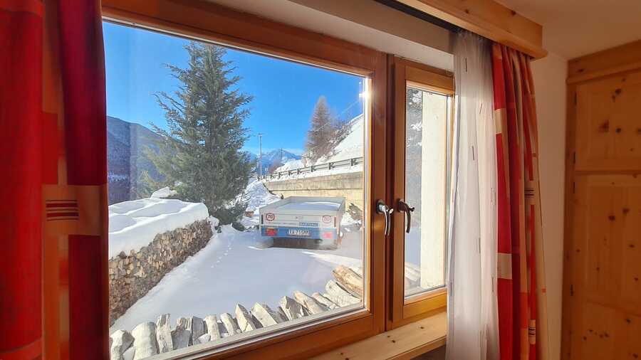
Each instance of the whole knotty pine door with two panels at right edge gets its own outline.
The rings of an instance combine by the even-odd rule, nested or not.
[[[568,84],[561,357],[641,359],[641,69]]]

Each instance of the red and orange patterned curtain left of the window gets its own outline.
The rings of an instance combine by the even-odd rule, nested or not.
[[[108,359],[100,1],[0,0],[0,359]]]

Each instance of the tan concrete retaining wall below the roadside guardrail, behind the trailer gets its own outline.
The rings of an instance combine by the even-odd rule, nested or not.
[[[363,209],[363,172],[314,176],[301,179],[266,181],[269,191],[278,196],[344,196],[345,207],[353,203]]]

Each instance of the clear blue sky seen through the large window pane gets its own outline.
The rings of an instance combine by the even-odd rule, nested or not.
[[[103,23],[107,71],[107,114],[149,127],[164,127],[165,115],[153,94],[174,92],[179,82],[164,64],[184,68],[189,41],[161,33]],[[229,49],[238,88],[254,96],[245,121],[251,137],[245,149],[258,153],[256,134],[263,133],[263,152],[284,148],[301,154],[316,100],[324,95],[340,118],[363,112],[363,79],[345,73]]]

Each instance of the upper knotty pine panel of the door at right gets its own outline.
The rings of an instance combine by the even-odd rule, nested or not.
[[[641,72],[579,85],[577,170],[641,168]]]

